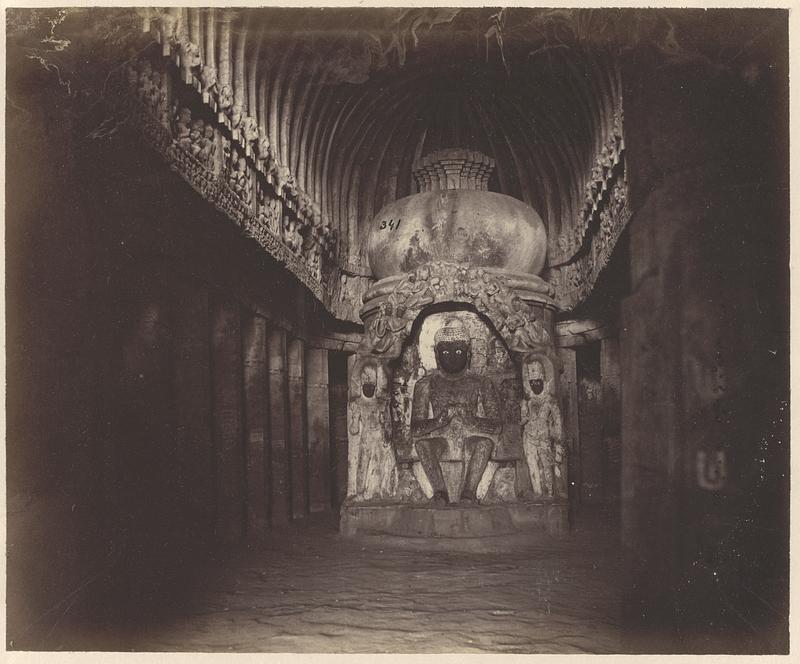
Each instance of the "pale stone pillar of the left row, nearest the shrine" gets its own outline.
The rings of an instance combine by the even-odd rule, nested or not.
[[[309,348],[306,352],[306,370],[309,509],[321,512],[331,507],[328,351]]]

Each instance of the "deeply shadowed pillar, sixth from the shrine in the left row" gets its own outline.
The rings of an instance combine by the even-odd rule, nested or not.
[[[208,291],[194,284],[173,286],[173,380],[177,477],[186,528],[195,540],[214,526],[214,447],[211,437],[211,374]]]

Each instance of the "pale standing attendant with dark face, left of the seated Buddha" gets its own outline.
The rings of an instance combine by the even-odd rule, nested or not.
[[[391,445],[388,381],[377,362],[365,361],[355,370],[347,404],[347,495],[354,502],[389,499],[397,488],[397,462]]]

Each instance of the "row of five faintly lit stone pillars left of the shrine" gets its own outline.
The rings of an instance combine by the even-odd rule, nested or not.
[[[211,314],[218,535],[234,539],[329,509],[328,351],[237,304]]]

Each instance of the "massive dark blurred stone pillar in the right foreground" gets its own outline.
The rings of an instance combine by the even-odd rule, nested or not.
[[[756,618],[755,595],[785,606],[764,593],[788,573],[788,504],[766,495],[788,483],[761,478],[781,467],[764,441],[786,394],[788,345],[770,337],[788,310],[786,62],[764,57],[755,76],[644,47],[623,64],[622,533],[626,607],[652,625],[775,624],[783,608]]]

